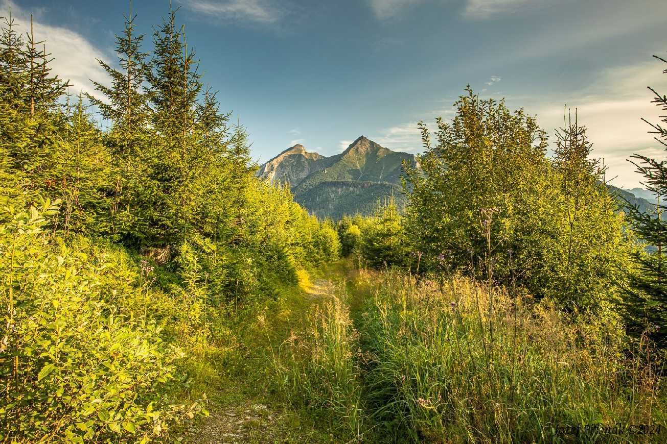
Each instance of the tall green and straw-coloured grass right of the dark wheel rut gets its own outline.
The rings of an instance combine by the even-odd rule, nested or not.
[[[567,441],[560,427],[664,423],[654,367],[626,359],[611,332],[465,278],[440,288],[390,271],[367,285],[374,416],[415,441]]]

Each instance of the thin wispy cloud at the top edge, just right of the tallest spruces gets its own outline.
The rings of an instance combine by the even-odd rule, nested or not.
[[[232,21],[274,23],[285,15],[279,2],[271,0],[182,0],[182,3],[197,13]]]

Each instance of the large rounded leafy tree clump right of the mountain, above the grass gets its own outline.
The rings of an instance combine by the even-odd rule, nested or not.
[[[452,124],[437,120],[435,144],[421,125],[421,169],[406,168],[408,229],[425,269],[516,280],[571,312],[607,319],[631,246],[585,128],[562,128],[549,159],[544,132],[524,111],[470,89],[456,107]]]

